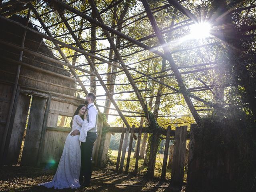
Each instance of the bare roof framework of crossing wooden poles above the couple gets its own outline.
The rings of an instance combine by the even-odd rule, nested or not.
[[[19,70],[20,67],[22,65],[25,65],[24,63],[22,63],[22,53],[23,52],[27,52],[29,54],[32,54],[34,56],[38,56],[40,58],[44,58],[46,60],[49,61],[54,61],[58,64],[61,64],[62,66],[67,66],[72,74],[73,77],[76,78],[76,82],[78,82],[80,88],[82,90],[78,90],[77,91],[82,91],[85,94],[88,93],[88,90],[86,89],[86,85],[85,82],[83,82],[81,80],[82,76],[94,76],[97,81],[100,82],[100,85],[94,85],[94,86],[102,86],[102,88],[105,91],[105,95],[106,100],[110,101],[114,108],[110,108],[109,106],[100,106],[98,105],[98,107],[103,107],[106,108],[108,110],[116,110],[118,112],[118,115],[122,118],[125,126],[127,128],[131,128],[132,126],[129,124],[129,122],[126,120],[126,117],[141,117],[141,116],[145,116],[148,123],[150,124],[150,116],[149,116],[149,111],[148,111],[148,107],[146,104],[146,98],[152,98],[152,97],[156,97],[158,98],[158,102],[160,102],[159,97],[162,95],[167,95],[167,94],[182,94],[182,96],[184,97],[184,100],[186,101],[186,104],[191,112],[191,114],[188,114],[187,116],[192,116],[194,118],[194,120],[199,123],[200,122],[200,115],[198,114],[198,111],[203,111],[203,110],[209,110],[209,108],[203,108],[203,109],[199,109],[196,110],[192,99],[194,100],[198,100],[199,102],[202,102],[202,106],[204,107],[214,107],[216,104],[208,102],[198,96],[196,96],[195,94],[193,94],[193,92],[197,92],[197,91],[205,91],[205,90],[212,90],[212,88],[214,87],[214,85],[207,85],[204,82],[202,82],[204,84],[204,86],[201,87],[196,87],[196,88],[187,88],[186,84],[184,83],[184,79],[182,78],[182,74],[190,74],[190,73],[195,73],[195,72],[200,72],[200,71],[206,71],[206,70],[212,70],[215,68],[215,66],[210,66],[210,67],[206,67],[209,65],[214,65],[215,62],[209,62],[209,63],[203,63],[203,64],[195,64],[195,65],[187,65],[187,66],[178,66],[176,64],[176,62],[174,61],[172,54],[174,54],[174,52],[172,52],[170,50],[170,48],[168,48],[168,46],[165,46],[165,44],[167,43],[166,40],[164,40],[164,34],[172,31],[172,30],[176,30],[179,28],[184,28],[186,26],[189,26],[191,24],[196,24],[199,22],[198,18],[190,11],[187,10],[186,8],[184,8],[184,6],[182,6],[182,2],[184,2],[184,0],[167,0],[169,4],[167,4],[166,6],[160,6],[157,8],[150,8],[150,5],[148,4],[147,0],[141,0],[143,6],[144,6],[144,12],[138,13],[134,16],[128,17],[125,19],[126,22],[128,22],[128,24],[122,26],[122,23],[119,23],[115,26],[108,26],[107,24],[104,24],[104,21],[102,19],[102,14],[106,13],[108,10],[110,10],[111,8],[113,8],[114,6],[123,3],[123,0],[113,0],[108,6],[106,6],[104,9],[99,10],[98,9],[98,5],[95,3],[94,0],[88,0],[90,6],[88,6],[88,9],[85,11],[82,11],[79,9],[79,7],[76,6],[76,3],[78,3],[78,0],[73,0],[70,1],[70,3],[65,3],[61,0],[51,0],[51,1],[42,1],[41,4],[39,4],[38,2],[36,2],[35,4],[37,5],[36,7],[34,6],[34,1],[21,1],[21,0],[10,0],[10,1],[4,1],[0,4],[0,20],[1,21],[5,21],[5,22],[10,22],[18,27],[20,27],[22,30],[24,30],[24,36],[23,36],[23,43],[22,45],[18,46],[15,44],[12,44],[10,42],[6,42],[4,40],[0,40],[1,44],[4,44],[6,46],[12,47],[12,48],[16,48],[18,50],[20,50],[21,54],[20,54],[20,60],[19,62],[11,60],[10,58],[2,58],[4,60],[9,60],[12,62],[16,62],[19,66],[18,71],[16,72],[16,83],[14,86],[14,92],[13,92],[13,96],[12,96],[12,100],[11,100],[11,107],[10,109],[12,109],[13,105],[14,105],[14,99],[15,99],[15,93],[17,90],[17,86],[18,86],[18,79],[19,79]],[[40,8],[40,6],[42,6],[43,4],[46,4],[50,2],[53,6],[49,6],[49,11],[47,12],[43,12],[40,13],[38,12],[38,8]],[[184,16],[186,16],[186,19],[184,19],[183,21],[181,21],[180,23],[177,24],[172,24],[172,26],[167,27],[167,28],[163,28],[160,29],[155,18],[154,18],[154,13],[156,12],[160,12],[161,10],[164,10],[170,6],[174,6],[180,13],[184,14]],[[244,8],[244,10],[248,10],[251,8],[255,8],[255,6],[250,6],[247,8]],[[22,12],[24,10],[28,10],[28,15],[27,15],[27,19],[29,20],[29,18],[31,17],[32,13],[34,14],[35,20],[37,20],[38,22],[40,22],[41,26],[38,26],[39,28],[41,28],[43,32],[38,32],[26,25],[20,24],[18,22],[15,22],[11,19],[9,19],[9,17],[13,14]],[[231,12],[235,12],[235,11],[241,11],[242,9],[238,9],[238,10],[231,10]],[[58,13],[59,19],[60,21],[56,22],[56,23],[52,23],[50,26],[47,26],[45,23],[46,21],[44,20],[44,16],[46,14],[50,14],[52,12],[56,11]],[[66,16],[66,12],[72,13],[73,16],[68,18]],[[94,12],[94,16],[90,15],[90,12]],[[146,15],[144,15],[146,13]],[[135,16],[138,16],[139,18],[132,20],[132,18],[134,18]],[[90,28],[80,28],[78,30],[74,30],[74,26],[72,26],[70,24],[70,22],[68,22],[71,19],[77,18],[79,17],[80,19],[86,20],[87,22],[89,22],[92,27],[99,27],[102,29],[104,36],[106,36],[106,38],[101,38],[101,39],[92,39],[91,41],[100,41],[102,39],[107,39],[109,44],[110,44],[110,48],[107,48],[105,50],[111,50],[114,52],[115,58],[108,58],[106,56],[103,56],[102,54],[98,53],[101,50],[96,50],[94,53],[88,51],[85,47],[84,47],[84,43],[86,43],[86,41],[80,41],[78,36],[77,36],[77,32],[81,32],[84,30],[88,30]],[[148,17],[150,24],[154,30],[154,34],[151,34],[149,36],[145,36],[143,38],[140,39],[134,39],[132,37],[130,37],[127,34],[124,34],[123,32],[120,32],[121,28],[118,28],[117,30],[115,29],[116,27],[122,27],[125,28],[126,26],[133,24],[136,21],[142,20],[143,18]],[[124,22],[124,21],[123,21]],[[214,21],[212,21],[213,25],[214,25]],[[49,28],[57,26],[59,24],[63,24],[63,26],[65,26],[65,28],[67,29],[66,32],[63,32],[63,34],[59,34],[58,36],[54,36]],[[50,42],[52,42],[54,44],[55,47],[51,47],[54,50],[57,50],[58,53],[61,55],[60,60],[54,60],[52,58],[49,58],[43,54],[40,54],[36,51],[32,51],[32,50],[28,50],[26,48],[24,48],[24,38],[26,38],[26,32],[30,31],[33,32],[34,34],[42,37],[45,40],[48,40]],[[117,37],[117,38],[122,38],[124,40],[127,41],[126,44],[122,45],[122,46],[117,46],[114,43],[114,38],[113,38],[113,34]],[[225,42],[225,40],[223,38],[221,38],[220,36],[218,36],[217,33],[215,32],[211,32],[211,34],[215,37],[215,38],[219,38],[221,42]],[[67,36],[67,35],[71,35],[72,36],[72,40],[74,40],[74,43],[71,44],[67,44],[61,40],[58,40],[60,38],[62,38],[63,36]],[[158,42],[159,42],[159,46],[162,47],[162,51],[157,50],[157,48],[154,47],[150,47],[148,45],[146,45],[145,43],[143,43],[144,40],[150,40],[151,38],[157,37]],[[129,48],[131,46],[136,46],[136,47],[140,47],[141,50],[140,51],[136,51],[133,52],[132,54],[128,54],[128,55],[124,55],[122,56],[120,54],[120,50],[123,50],[125,48]],[[207,46],[207,45],[203,45],[203,46]],[[200,47],[200,46],[199,46]],[[67,48],[70,50],[74,50],[77,54],[75,55],[71,55],[71,56],[66,56],[62,50],[62,48]],[[146,60],[150,60],[150,59],[154,59],[157,57],[161,57],[162,59],[168,61],[169,63],[169,68],[166,68],[166,64],[162,65],[162,69],[160,72],[157,72],[155,74],[146,74],[145,72],[142,72],[140,70],[137,70],[136,68],[133,68],[132,66],[130,66],[131,64],[127,64],[125,62],[126,57],[132,56],[133,54],[136,54],[138,52],[141,51],[148,51],[148,52],[152,52],[153,57],[150,57]],[[178,50],[179,51],[179,50]],[[178,52],[176,51],[176,52]],[[183,51],[183,50],[180,50]],[[88,64],[71,64],[70,60],[68,60],[68,58],[74,58],[77,56],[83,56],[86,60],[86,62]],[[142,61],[139,61],[142,62]],[[139,62],[133,63],[133,64],[137,64]],[[108,64],[109,66],[115,67],[118,69],[118,71],[116,71],[116,73],[124,73],[126,75],[126,77],[128,78],[128,81],[132,88],[133,91],[137,96],[136,101],[138,101],[140,103],[140,106],[143,110],[143,112],[132,112],[132,111],[126,111],[126,110],[120,110],[120,107],[118,106],[118,104],[116,103],[116,100],[113,98],[114,94],[118,94],[118,93],[114,93],[113,90],[109,90],[109,85],[118,85],[120,84],[119,82],[111,82],[111,81],[107,81],[107,83],[105,82],[105,80],[103,80],[102,76],[106,75],[106,74],[113,74],[113,72],[108,72],[108,73],[104,73],[104,74],[100,74],[100,72],[98,72],[96,65],[97,64]],[[85,70],[84,66],[85,65],[89,65],[90,68],[92,70]],[[191,71],[186,71],[186,72],[180,72],[179,69],[189,69],[192,67],[200,67],[200,66],[204,66],[204,68],[200,68],[197,70],[191,70]],[[77,72],[82,72],[82,76],[79,76],[77,74]],[[137,74],[140,74],[141,76],[138,78],[133,78],[131,75],[131,72],[135,72]],[[164,72],[170,72],[169,74],[162,74]],[[176,78],[176,81],[178,82],[178,88],[174,88],[173,86],[170,86],[169,84],[166,84],[164,82],[164,78],[166,77],[171,77],[174,76]],[[170,90],[169,93],[165,93],[165,94],[158,94],[156,96],[150,96],[150,97],[143,97],[141,92],[142,91],[147,91],[147,90],[139,90],[136,83],[141,82],[140,78],[142,77],[146,77],[151,81],[154,81],[158,84],[160,84],[162,87],[168,88],[168,90]],[[227,85],[230,86],[230,85]],[[100,97],[101,95],[97,95],[98,97]],[[129,113],[133,113],[133,114],[137,114],[137,115],[124,115],[123,112],[129,112]],[[9,114],[11,114],[12,111],[10,110]],[[101,114],[102,115],[102,114]],[[109,115],[109,114],[107,114]],[[9,115],[10,116],[10,115]],[[170,115],[166,115],[166,117],[168,117]],[[6,140],[6,136],[8,133],[8,128],[9,128],[9,123],[10,123],[10,119],[7,120],[6,122],[6,129],[5,129],[5,134],[4,134],[4,142]],[[135,136],[135,135],[134,135]],[[135,136],[136,137],[136,136]],[[4,143],[3,142],[3,143]],[[1,155],[3,154],[3,148],[4,146],[2,145],[1,147]]]

